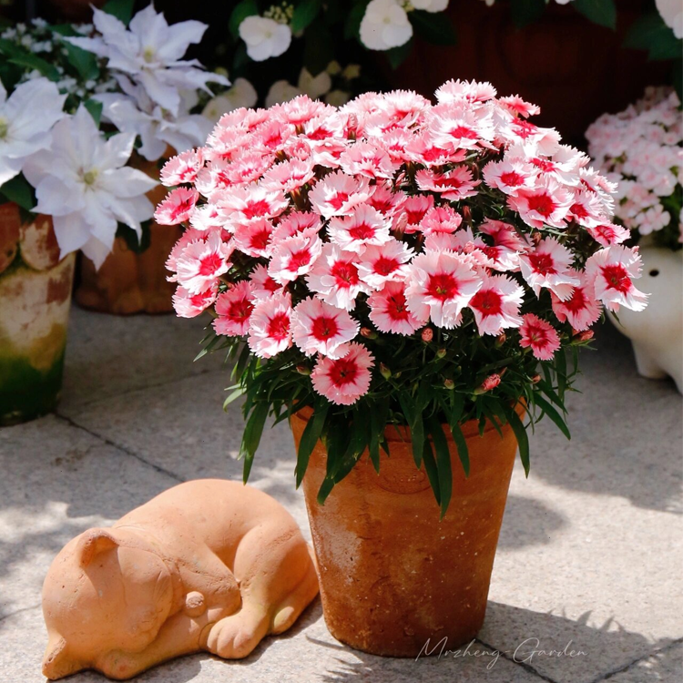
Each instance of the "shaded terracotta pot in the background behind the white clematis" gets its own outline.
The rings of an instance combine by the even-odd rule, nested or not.
[[[155,162],[138,157],[131,166],[158,178]],[[149,190],[147,196],[156,206],[166,192],[166,188],[158,186]],[[165,264],[182,230],[178,226],[157,225],[153,221],[149,230],[149,247],[142,253],[128,249],[126,240],[117,238],[114,249],[99,270],[95,270],[95,265],[87,257],[81,257],[76,280],[76,303],[79,306],[117,315],[168,313],[173,310],[171,297],[176,288],[167,280]]]

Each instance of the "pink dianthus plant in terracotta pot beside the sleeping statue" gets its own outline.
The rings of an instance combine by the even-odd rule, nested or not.
[[[578,347],[639,309],[614,186],[488,83],[222,117],[169,160],[178,315],[234,360],[245,480],[269,416],[297,448],[331,634],[415,656],[474,637],[517,446],[568,435]]]

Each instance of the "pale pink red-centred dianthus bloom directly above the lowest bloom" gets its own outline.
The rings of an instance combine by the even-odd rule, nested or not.
[[[352,339],[361,329],[347,311],[331,306],[315,297],[299,303],[291,316],[294,343],[307,356],[322,353],[342,358],[349,352]]]

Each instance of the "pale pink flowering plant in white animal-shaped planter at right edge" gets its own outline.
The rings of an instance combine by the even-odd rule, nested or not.
[[[617,181],[615,220],[622,240],[632,230],[640,246],[644,314],[611,316],[633,343],[638,372],[673,378],[683,392],[683,122],[678,95],[647,88],[645,97],[618,114],[604,114],[586,131],[589,152]]]

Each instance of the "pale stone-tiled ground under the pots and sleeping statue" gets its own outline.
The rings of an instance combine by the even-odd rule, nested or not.
[[[40,586],[66,541],[178,482],[241,476],[239,408],[221,410],[228,373],[218,356],[192,363],[201,321],[75,310],[71,323],[58,414],[0,430],[3,683],[43,680]],[[683,680],[681,397],[672,382],[638,377],[613,329],[598,345],[584,353],[582,393],[569,401],[572,441],[542,423],[531,439],[531,476],[515,469],[484,629],[466,656],[353,651],[329,635],[316,600],[291,631],[245,660],[200,654],[138,680]],[[286,505],[308,537],[293,464],[280,425],[264,434],[251,484]],[[528,658],[534,647],[566,646],[583,654]]]

